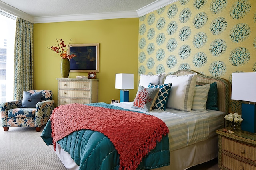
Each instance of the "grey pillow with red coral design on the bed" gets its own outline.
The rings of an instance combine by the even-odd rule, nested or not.
[[[144,88],[139,86],[132,108],[141,109],[150,112],[158,97],[159,88]]]

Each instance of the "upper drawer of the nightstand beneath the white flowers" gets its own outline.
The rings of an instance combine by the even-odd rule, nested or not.
[[[256,161],[256,147],[222,138],[222,150],[236,154],[248,160]]]

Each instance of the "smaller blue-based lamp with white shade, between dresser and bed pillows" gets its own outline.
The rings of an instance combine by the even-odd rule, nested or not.
[[[134,89],[133,74],[116,74],[116,89],[120,89],[120,102],[129,102],[128,89]]]

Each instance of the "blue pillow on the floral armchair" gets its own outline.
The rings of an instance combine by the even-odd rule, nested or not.
[[[23,91],[22,108],[36,108],[36,104],[41,101],[42,92],[30,93]]]

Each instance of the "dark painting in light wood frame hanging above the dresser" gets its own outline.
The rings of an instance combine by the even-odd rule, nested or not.
[[[70,44],[68,55],[76,55],[70,59],[70,72],[99,72],[99,47],[99,43]]]

